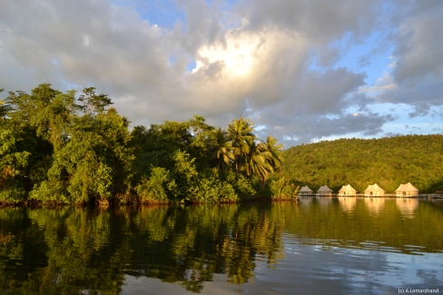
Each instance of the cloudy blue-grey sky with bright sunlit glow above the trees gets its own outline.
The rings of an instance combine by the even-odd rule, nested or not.
[[[94,86],[132,126],[248,117],[285,147],[443,133],[442,15],[441,0],[0,0],[0,88]]]

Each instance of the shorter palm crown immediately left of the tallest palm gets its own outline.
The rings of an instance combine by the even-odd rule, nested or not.
[[[222,128],[212,131],[208,152],[211,159],[217,159],[217,168],[219,170],[224,164],[229,165],[230,160],[235,160],[231,139]]]

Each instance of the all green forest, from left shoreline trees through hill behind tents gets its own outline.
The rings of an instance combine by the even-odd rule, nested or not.
[[[1,92],[1,90],[0,90]],[[3,94],[3,93],[2,93]],[[130,128],[111,98],[40,84],[0,100],[0,204],[291,199],[301,185],[358,192],[411,182],[443,190],[443,135],[340,139],[283,151],[250,119],[216,128],[194,115]]]

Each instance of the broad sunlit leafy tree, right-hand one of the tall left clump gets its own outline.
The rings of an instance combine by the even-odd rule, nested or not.
[[[127,202],[131,188],[132,150],[129,122],[115,109],[74,118],[69,141],[54,151],[48,179],[31,198],[51,202]]]

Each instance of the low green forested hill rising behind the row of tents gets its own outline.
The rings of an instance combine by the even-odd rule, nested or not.
[[[317,190],[327,184],[338,192],[350,183],[357,192],[378,183],[394,192],[411,182],[420,192],[443,191],[443,135],[407,135],[380,139],[340,139],[291,147],[283,173]]]

